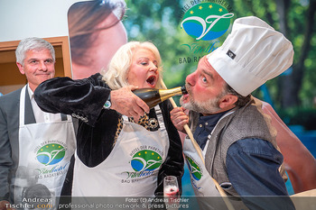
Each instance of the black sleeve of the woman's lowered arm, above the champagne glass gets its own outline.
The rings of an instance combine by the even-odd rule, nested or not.
[[[181,178],[184,173],[184,159],[180,135],[170,119],[170,111],[172,110],[172,105],[167,100],[163,102],[161,108],[163,110],[163,119],[168,132],[170,146],[167,158],[163,162],[162,168],[159,170],[155,196],[163,196],[163,178],[169,175],[178,178],[179,190],[181,193]]]

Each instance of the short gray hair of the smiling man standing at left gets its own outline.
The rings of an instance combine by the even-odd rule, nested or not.
[[[52,47],[50,42],[42,40],[41,38],[37,38],[37,37],[23,39],[22,41],[20,41],[19,45],[17,46],[15,50],[16,62],[23,65],[24,59],[25,59],[25,53],[28,50],[44,50],[44,49],[51,51],[52,61],[55,62],[55,50]]]

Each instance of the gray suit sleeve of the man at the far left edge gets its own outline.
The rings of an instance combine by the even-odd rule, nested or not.
[[[13,165],[5,114],[0,105],[0,201],[9,199],[8,175]]]

